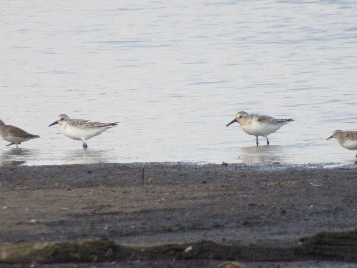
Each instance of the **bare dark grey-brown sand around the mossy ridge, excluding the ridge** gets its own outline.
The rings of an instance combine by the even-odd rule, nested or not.
[[[357,227],[355,166],[146,163],[144,180],[142,172],[143,163],[0,167],[0,243],[107,237],[118,244],[212,240],[291,247],[321,230]],[[35,267],[216,267],[222,262]],[[325,266],[321,260],[241,262],[263,268]],[[357,267],[351,265],[337,266]]]

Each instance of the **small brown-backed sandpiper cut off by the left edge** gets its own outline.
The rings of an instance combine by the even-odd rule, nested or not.
[[[39,135],[33,135],[27,133],[25,130],[18,128],[17,126],[5,125],[3,121],[0,120],[0,136],[7,142],[11,142],[5,146],[9,146],[12,144],[20,144],[22,142],[26,142],[26,140],[40,138]]]

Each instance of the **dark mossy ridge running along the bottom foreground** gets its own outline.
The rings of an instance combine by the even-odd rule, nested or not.
[[[0,244],[0,263],[95,263],[132,260],[243,260],[355,262],[357,230],[319,232],[299,239],[299,245],[247,245],[201,240],[191,243],[117,244],[107,238],[64,242]],[[235,268],[235,267],[231,267]]]

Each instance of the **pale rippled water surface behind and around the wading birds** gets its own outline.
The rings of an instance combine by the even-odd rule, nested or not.
[[[356,1],[12,1],[0,11],[0,118],[41,136],[2,165],[354,163]],[[238,111],[293,118],[270,145]],[[120,121],[81,141],[59,114]]]

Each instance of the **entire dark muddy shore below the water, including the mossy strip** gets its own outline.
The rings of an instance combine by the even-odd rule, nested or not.
[[[1,267],[357,267],[356,182],[355,166],[1,167]]]

